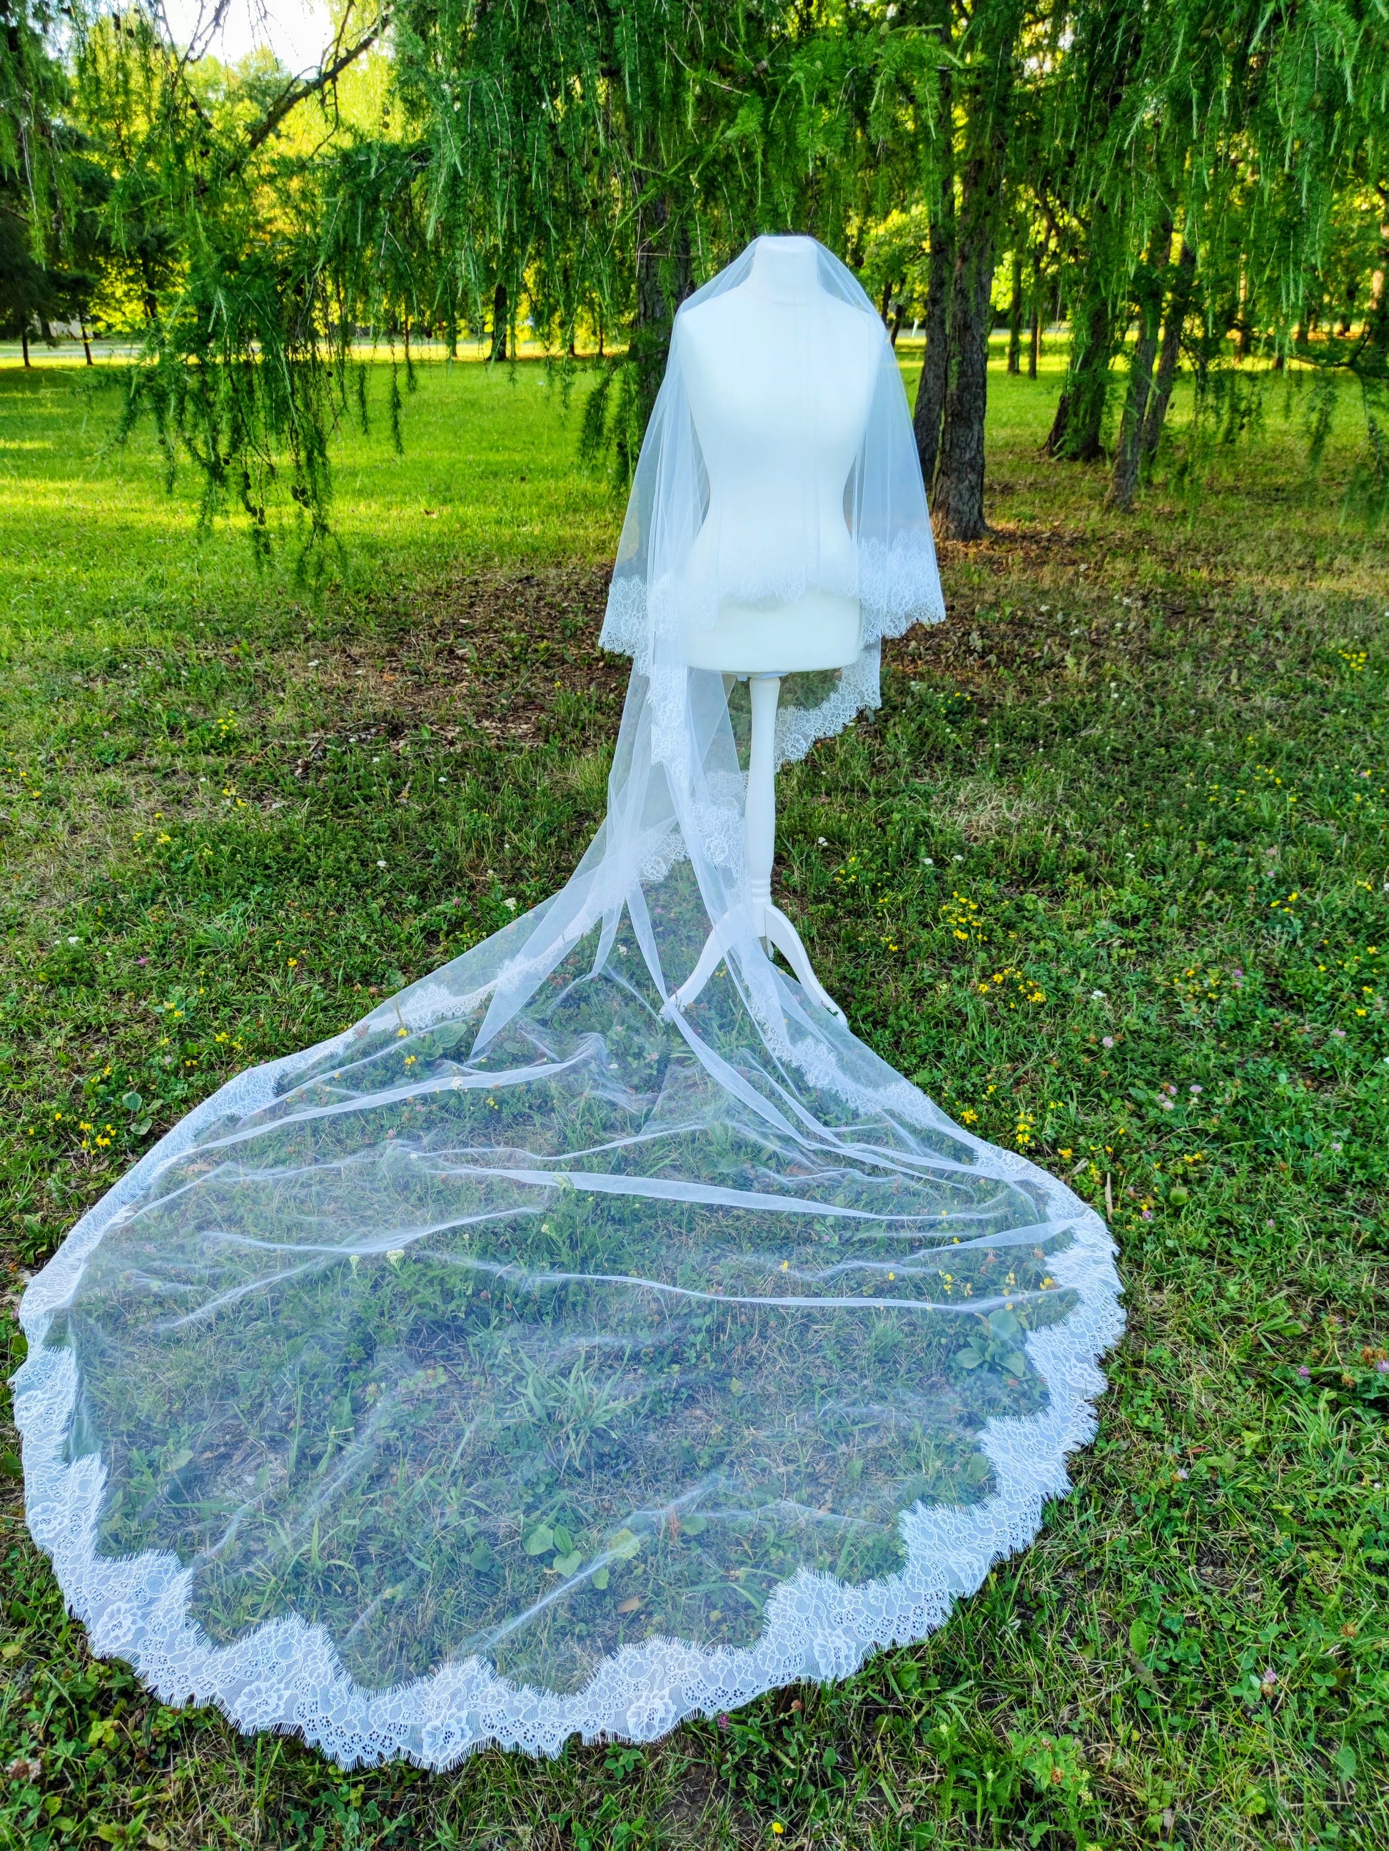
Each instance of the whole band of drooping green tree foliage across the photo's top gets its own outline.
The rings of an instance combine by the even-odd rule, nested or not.
[[[59,39],[43,6],[9,7],[6,326],[22,298],[26,329],[93,311],[133,329],[146,368],[126,428],[150,415],[261,553],[278,502],[322,552],[363,348],[385,346],[407,389],[422,337],[485,337],[496,359],[532,339],[561,370],[596,342],[582,455],[626,479],[678,304],[752,233],[822,237],[896,331],[926,313],[933,213],[939,287],[963,292],[941,322],[952,381],[987,335],[1000,257],[1019,255],[1039,318],[1070,318],[1050,453],[1106,453],[1137,317],[1128,407],[1148,402],[1163,335],[1130,444],[1141,479],[1178,365],[1224,426],[1258,389],[1232,374],[1296,359],[1358,398],[1348,507],[1374,520],[1389,496],[1378,6],[406,0],[383,50],[380,0],[350,0],[302,80],[269,56],[224,70],[211,15],[176,50],[154,11],[87,0]],[[939,500],[972,533],[976,485],[954,478],[983,411],[961,392]]]

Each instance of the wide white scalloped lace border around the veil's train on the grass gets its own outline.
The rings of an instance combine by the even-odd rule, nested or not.
[[[44,1335],[109,1214],[96,1225],[93,1218],[78,1224],[22,1305],[33,1348],[15,1377],[15,1418],[30,1533],[52,1559],[67,1605],[87,1625],[98,1657],[126,1658],[167,1703],[215,1705],[244,1733],[300,1734],[343,1768],[406,1758],[443,1770],[491,1742],[557,1755],[572,1734],[650,1742],[687,1716],[730,1710],[798,1679],[848,1677],[872,1651],[924,1638],[996,1560],[1032,1542],[1046,1499],[1070,1490],[1067,1455],[1095,1433],[1095,1401],[1106,1388],[1098,1359],[1124,1327],[1113,1240],[1065,1185],[1019,1161],[1045,1181],[1076,1233],[1052,1272],[1078,1303],[1061,1323],[1026,1340],[1050,1390],[1048,1405],[982,1429],[980,1446],[998,1485],[993,1496],[978,1505],[902,1512],[907,1560],[900,1573],[846,1586],[800,1570],[767,1603],[763,1634],[750,1647],[648,1638],[606,1658],[583,1690],[561,1696],[517,1686],[476,1657],[369,1690],[346,1673],[328,1631],[294,1614],[215,1644],[191,1618],[193,1570],[172,1551],[96,1553],[106,1468],[96,1455],[63,1460],[78,1370],[69,1349],[46,1348]]]

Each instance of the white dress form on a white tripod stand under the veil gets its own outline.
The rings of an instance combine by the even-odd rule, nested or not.
[[[782,677],[846,668],[863,648],[845,494],[869,422],[880,344],[861,313],[820,287],[817,248],[806,237],[759,239],[746,280],[682,322],[689,407],[709,479],[707,515],[689,555],[691,583],[717,583],[730,559],[737,561],[735,578],[819,581],[789,598],[720,598],[711,626],[685,626],[685,659],[691,668],[748,679],[752,929],[841,1020],[800,933],[772,905],[774,737]],[[813,559],[806,559],[807,531],[819,537]],[[724,950],[726,933],[715,927],[672,998],[678,1009],[698,996]]]

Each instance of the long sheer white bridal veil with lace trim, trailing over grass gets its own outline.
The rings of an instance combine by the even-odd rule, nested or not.
[[[874,315],[824,250],[819,287]],[[93,1649],[344,1766],[650,1740],[922,1638],[1065,1494],[1120,1327],[1091,1209],[746,924],[746,689],[730,709],[680,627],[813,589],[819,546],[807,515],[772,566],[715,544],[682,578],[707,507],[685,313],[604,631],[633,655],[607,818],[569,885],[222,1087],[22,1301],[28,1522]],[[865,648],[785,683],[782,761],[876,703],[880,637],[943,615],[885,337],[845,513]]]

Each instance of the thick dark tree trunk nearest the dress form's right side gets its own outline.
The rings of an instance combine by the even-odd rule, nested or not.
[[[965,168],[956,280],[950,292],[950,376],[941,420],[935,518],[950,540],[982,540],[983,415],[989,404],[989,333],[993,329],[993,254],[1002,172],[995,148]]]

